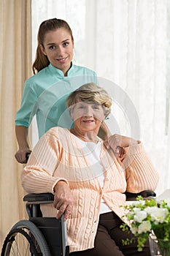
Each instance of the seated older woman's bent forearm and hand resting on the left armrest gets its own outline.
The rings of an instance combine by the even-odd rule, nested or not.
[[[28,165],[23,169],[21,183],[28,193],[53,193],[55,195],[54,207],[58,210],[57,219],[64,214],[63,220],[66,220],[72,214],[74,198],[66,179],[51,176],[47,170],[43,170],[39,165],[36,168],[34,165]]]

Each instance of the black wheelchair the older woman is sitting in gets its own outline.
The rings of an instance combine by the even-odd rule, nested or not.
[[[155,197],[155,192],[144,190],[140,193],[125,192],[126,200]],[[4,240],[1,256],[69,256],[66,244],[66,222],[63,219],[42,217],[41,204],[53,203],[50,193],[28,194],[26,211],[29,220],[20,220],[9,231]]]

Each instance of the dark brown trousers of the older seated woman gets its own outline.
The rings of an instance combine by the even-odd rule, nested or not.
[[[72,252],[70,256],[150,256],[147,243],[142,252],[137,251],[135,243],[123,246],[122,239],[134,237],[120,229],[122,220],[114,212],[101,214],[95,238],[95,247],[82,252]]]

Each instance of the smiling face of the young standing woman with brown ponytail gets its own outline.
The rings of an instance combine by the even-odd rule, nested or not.
[[[74,48],[69,31],[61,28],[47,32],[43,46],[41,45],[42,52],[47,56],[50,63],[61,69],[66,75],[71,65]]]

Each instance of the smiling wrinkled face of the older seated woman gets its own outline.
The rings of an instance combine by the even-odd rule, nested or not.
[[[98,133],[101,122],[104,121],[104,109],[96,102],[77,102],[71,111],[74,127],[80,131]]]

